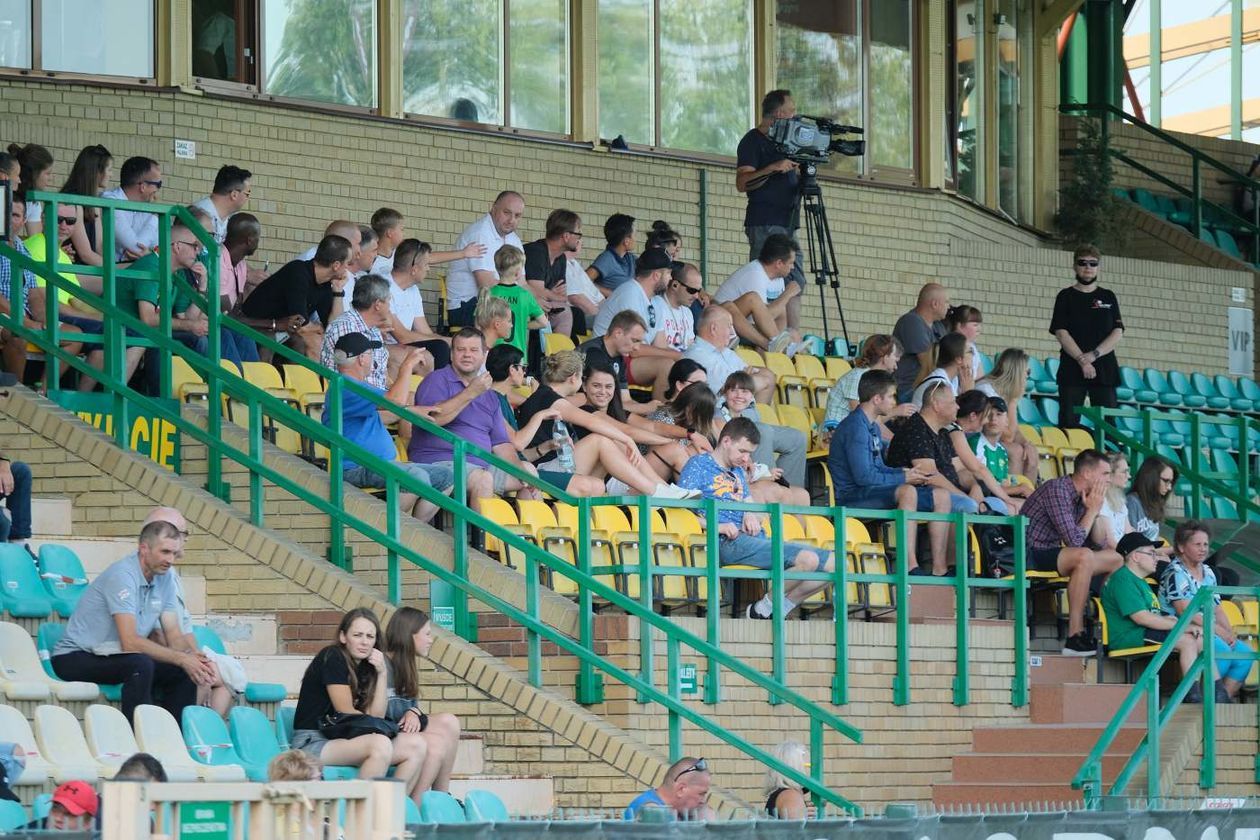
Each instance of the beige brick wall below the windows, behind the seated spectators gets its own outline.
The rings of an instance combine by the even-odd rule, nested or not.
[[[163,162],[161,198],[168,201],[205,195],[222,164],[239,164],[255,173],[249,210],[263,223],[256,262],[270,261],[272,267],[316,242],[328,220],[367,222],[383,205],[402,210],[411,233],[450,247],[508,188],[525,195],[525,241],[542,236],[547,213],[570,207],[583,217],[583,258],[593,259],[604,219],[626,212],[640,219],[643,230],[653,219],[670,222],[684,237],[684,258],[698,261],[702,171],[708,178],[708,288],[747,257],[745,200],[735,191],[730,164],[592,151],[578,144],[173,91],[16,79],[0,81],[0,139],[52,149],[54,180],[88,144],[108,146],[117,164],[130,155],[155,157]],[[197,142],[197,160],[174,159],[176,139]],[[1053,243],[941,193],[832,181],[824,191],[853,341],[890,331],[931,280],[949,286],[955,302],[984,311],[983,350],[1022,346],[1042,356],[1056,350],[1046,327],[1053,296],[1071,281],[1071,268],[1068,254]],[[1234,287],[1245,288],[1242,305],[1251,306],[1249,275],[1109,259],[1102,282],[1120,296],[1129,321],[1121,361],[1225,372],[1226,309]],[[838,335],[830,290],[823,301],[813,285],[805,292],[805,329],[822,331],[823,306]]]

